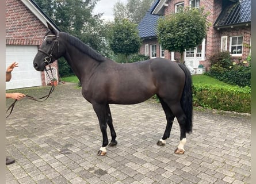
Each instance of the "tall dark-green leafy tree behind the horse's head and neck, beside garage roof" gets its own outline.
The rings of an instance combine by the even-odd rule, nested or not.
[[[49,18],[62,30],[78,37],[102,55],[108,55],[102,13],[93,15],[95,4],[100,0],[34,0]],[[60,74],[70,75],[66,60],[59,60]],[[63,68],[63,70],[61,69]],[[67,72],[68,71],[68,72]]]

